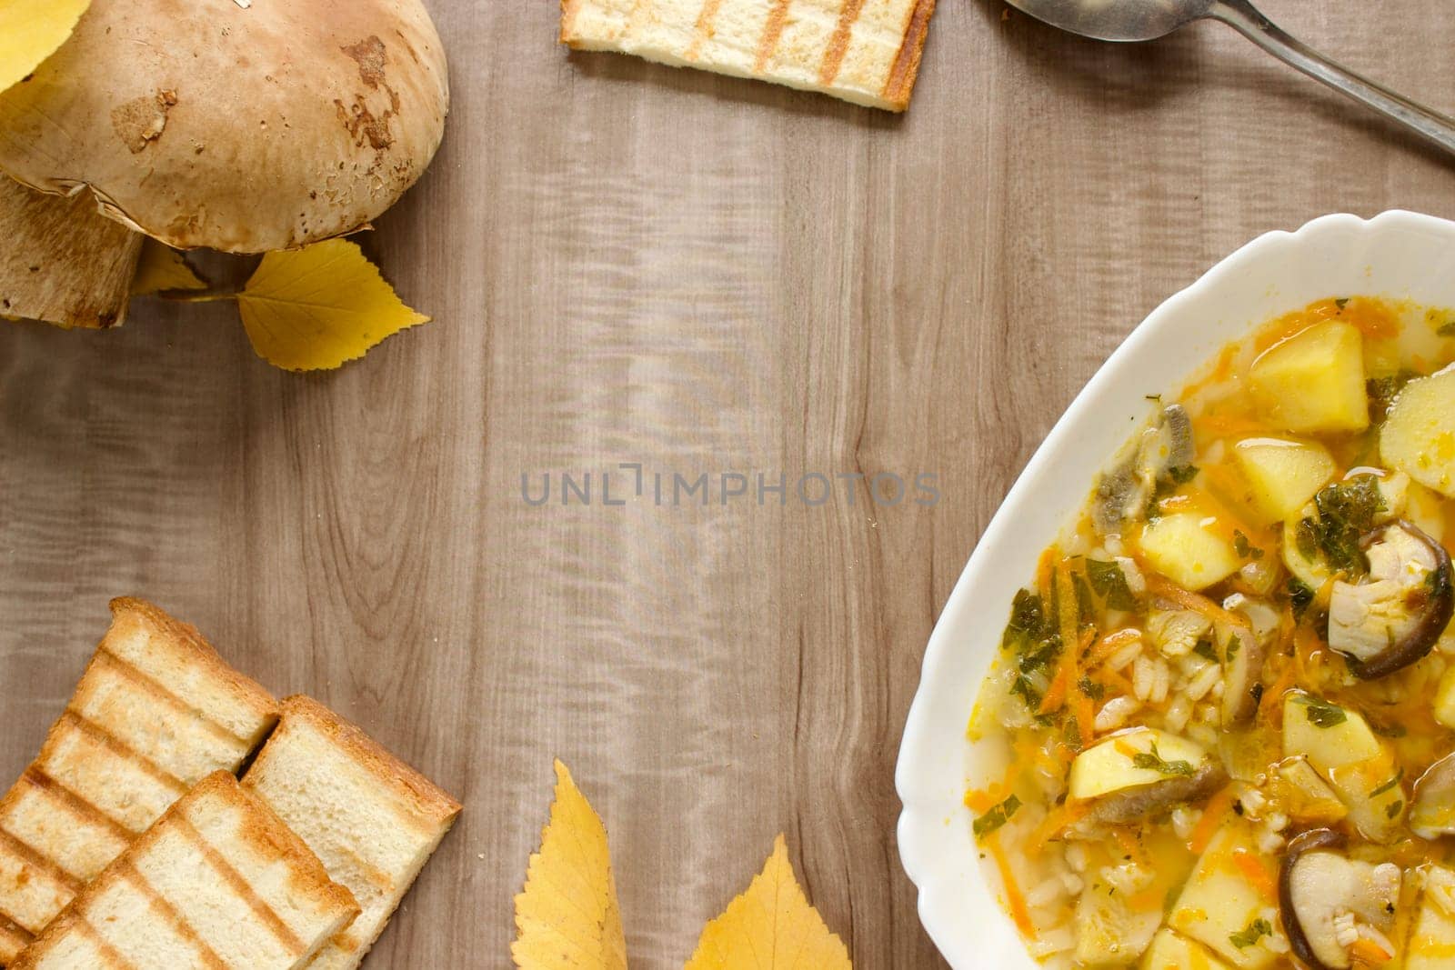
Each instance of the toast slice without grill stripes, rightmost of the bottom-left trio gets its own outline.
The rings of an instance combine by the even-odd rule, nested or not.
[[[278,730],[243,777],[308,843],[362,913],[308,963],[356,967],[460,814],[460,804],[358,727],[307,697],[282,702]]]

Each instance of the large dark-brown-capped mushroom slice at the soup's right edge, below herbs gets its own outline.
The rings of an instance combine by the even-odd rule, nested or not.
[[[1455,612],[1451,557],[1417,526],[1398,519],[1363,537],[1366,582],[1336,580],[1328,646],[1374,679],[1424,657]]]

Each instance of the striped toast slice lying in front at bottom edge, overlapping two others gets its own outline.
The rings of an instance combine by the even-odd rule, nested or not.
[[[13,970],[291,970],[358,915],[349,891],[227,771],[172,804]]]

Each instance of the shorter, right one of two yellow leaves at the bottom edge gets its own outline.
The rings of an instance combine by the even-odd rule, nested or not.
[[[848,970],[848,950],[829,932],[793,877],[780,835],[748,891],[703,928],[685,970]]]

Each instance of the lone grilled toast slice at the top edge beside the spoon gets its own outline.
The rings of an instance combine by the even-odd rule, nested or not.
[[[904,111],[933,13],[934,0],[562,0],[560,39]]]

